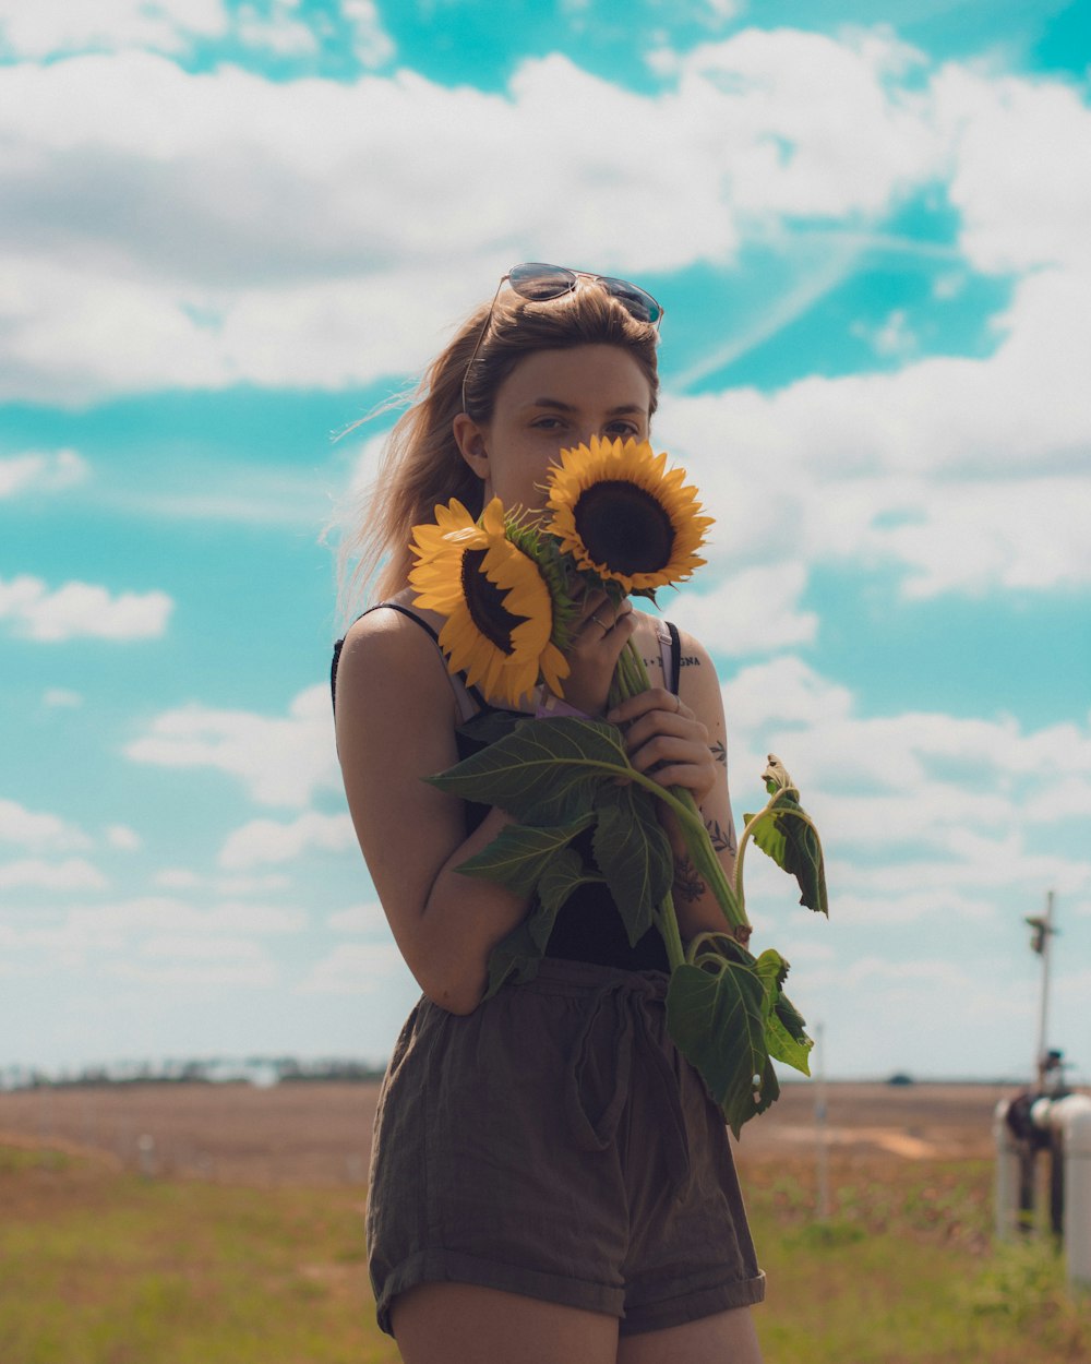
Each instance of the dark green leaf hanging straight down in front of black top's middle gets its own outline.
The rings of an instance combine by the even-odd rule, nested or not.
[[[621,910],[630,945],[652,926],[674,880],[674,853],[655,803],[651,792],[634,786],[604,786],[595,799],[595,861]]]

